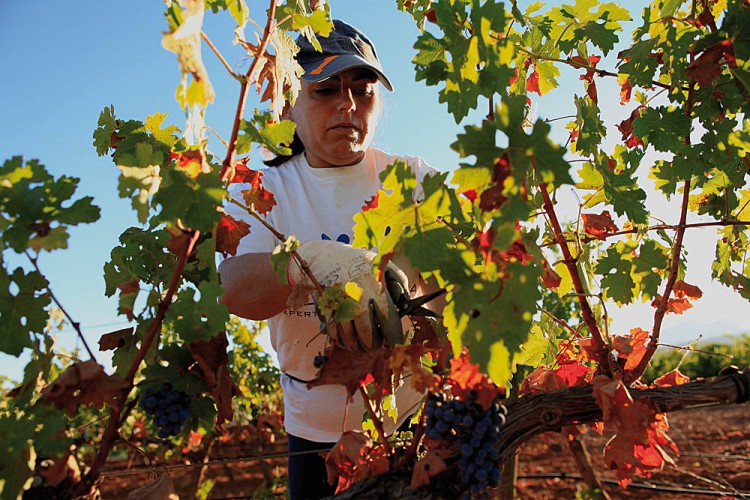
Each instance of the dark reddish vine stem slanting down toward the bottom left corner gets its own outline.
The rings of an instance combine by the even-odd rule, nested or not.
[[[167,312],[167,309],[169,309],[170,304],[172,303],[172,298],[174,297],[174,294],[179,287],[180,279],[182,278],[182,271],[185,269],[185,264],[187,263],[188,257],[192,253],[193,248],[195,247],[195,244],[200,237],[200,234],[200,231],[194,231],[191,238],[185,243],[185,246],[183,247],[183,250],[179,255],[177,266],[175,267],[174,273],[172,273],[172,278],[169,282],[169,288],[167,289],[164,298],[161,300],[161,302],[159,302],[156,316],[151,322],[148,332],[146,332],[146,335],[141,342],[141,347],[138,349],[138,352],[135,355],[135,359],[131,363],[130,368],[128,369],[128,373],[125,376],[125,380],[129,383],[127,392],[129,392],[130,387],[132,387],[133,380],[135,379],[135,374],[137,373],[141,362],[143,362],[144,358],[146,357],[146,353],[149,351],[151,345],[154,343],[154,341],[158,337],[158,334],[161,332],[161,325],[164,321],[164,315]],[[123,399],[125,399],[125,397],[127,396],[127,392],[123,391]],[[110,409],[112,410],[112,412],[109,418],[109,422],[107,423],[107,428],[105,429],[104,435],[102,436],[101,444],[99,446],[99,452],[94,458],[89,472],[86,474],[86,480],[81,483],[82,485],[88,485],[89,487],[91,487],[94,484],[96,479],[99,477],[99,472],[101,471],[102,466],[107,461],[109,452],[112,450],[115,441],[117,441],[117,439],[119,438],[120,414],[122,412],[121,401],[110,403]]]

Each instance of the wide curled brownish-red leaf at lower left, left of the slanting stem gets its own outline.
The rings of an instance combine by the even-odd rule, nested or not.
[[[102,409],[130,384],[117,375],[107,375],[104,368],[94,360],[70,365],[52,383],[42,389],[42,400],[55,405],[69,416],[78,411],[79,405],[93,404]]]

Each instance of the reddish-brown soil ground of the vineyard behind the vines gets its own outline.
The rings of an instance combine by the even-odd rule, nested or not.
[[[635,478],[627,488],[618,486],[615,473],[604,465],[607,436],[591,431],[581,437],[611,498],[750,498],[750,403],[674,412],[669,424],[680,450],[676,467]],[[203,472],[214,481],[209,498],[283,498],[285,450],[283,438],[271,442],[252,430],[234,429],[226,441],[216,442]],[[266,458],[246,458],[259,455]],[[109,464],[100,487],[103,498],[125,498],[154,478],[149,470],[123,474],[127,466],[124,461]],[[142,468],[141,460],[131,460],[130,471]],[[180,497],[192,498],[201,467],[176,464],[168,470]],[[574,499],[586,490],[564,437],[557,433],[543,434],[519,450],[518,476],[519,499]]]

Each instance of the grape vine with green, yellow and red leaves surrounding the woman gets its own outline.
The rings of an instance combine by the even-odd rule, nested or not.
[[[586,422],[600,420],[613,433],[604,456],[620,484],[648,475],[672,448],[664,407],[637,397],[637,383],[661,345],[667,315],[702,295],[689,281],[688,231],[715,232],[705,238],[715,248],[712,278],[750,299],[750,4],[660,1],[640,13],[585,0],[396,5],[419,28],[416,80],[436,89],[462,124],[451,144],[462,162],[425,179],[418,201],[411,170],[390,166],[377,203],[354,219],[353,244],[377,248],[375,266],[404,255],[447,290],[447,306],[441,322],[414,319],[407,345],[369,353],[333,345],[311,360],[319,369],[311,385],[342,384],[369,410],[368,430],[342,438],[351,446],[340,448],[356,456],[329,457],[339,487],[402,467],[413,470],[416,490],[454,464],[456,491],[482,495],[498,486],[502,459],[512,453],[500,448],[508,443],[506,408],[510,419],[516,403],[501,403],[501,396],[520,397],[519,408],[584,388],[598,405]],[[247,71],[234,69],[203,32],[209,10],[236,21]],[[249,231],[270,230],[279,240],[274,267],[298,262],[325,297],[326,316],[344,314],[350,299],[323,290],[297,255],[294,235],[265,221],[276,200],[263,187],[263,172],[250,168],[259,164],[254,146],[289,152],[294,124],[281,119],[281,110],[297,88],[293,35],[327,32],[332,15],[324,1],[271,0],[265,20],[252,20],[257,30],[246,36],[244,0],[166,2],[163,47],[177,56],[176,95],[191,117],[188,126],[168,124],[161,113],[124,118],[112,106],[94,131],[94,147],[119,169],[119,195],[140,224],[123,231],[104,267],[105,293],[117,297],[118,313],[132,325],[99,342],[100,351],[112,353],[112,373],[85,341],[88,360],[60,362],[51,308],[83,336],[39,260],[42,252],[66,248],[72,228],[95,222],[99,209],[89,196],[75,198],[78,179],[55,178],[20,156],[2,164],[0,351],[30,353],[23,379],[3,388],[0,403],[0,434],[12,436],[0,448],[3,497],[28,488],[35,456],[50,457],[65,478],[75,476],[71,464],[85,462],[85,472],[65,483],[67,493],[95,494],[111,452],[136,446],[123,428],[139,412],[168,446],[199,426],[218,432],[237,413],[278,410],[278,395],[271,396],[278,386],[269,382],[278,372],[256,358],[252,336],[220,303],[216,254],[234,255]],[[625,40],[621,32],[633,18],[640,21]],[[204,44],[210,52],[202,55]],[[231,135],[219,138],[221,154],[206,136],[214,129],[201,126],[217,77],[203,57],[217,57],[240,86]],[[563,74],[578,76],[581,88],[559,99],[560,116],[536,117],[543,96],[562,95]],[[605,79],[616,82],[618,95],[599,93]],[[246,111],[251,90],[265,109]],[[627,118],[607,124],[605,106],[621,106]],[[483,117],[471,124],[476,111]],[[556,123],[564,124],[563,144],[552,139]],[[673,220],[655,221],[644,174],[679,204]],[[233,184],[246,187],[242,199],[229,196]],[[568,190],[579,197],[574,206],[562,201]],[[245,208],[253,224],[224,213],[229,203]],[[24,264],[14,267],[19,259]],[[636,302],[652,304],[652,324],[610,331],[608,305]],[[243,358],[248,349],[245,358],[265,367],[252,380]],[[678,370],[655,374],[661,375],[663,384],[682,381]],[[395,412],[394,381],[402,377],[428,394],[405,449],[383,431]],[[267,389],[261,398],[247,394],[258,381]],[[89,427],[80,420],[92,408],[97,425]],[[634,430],[636,419],[643,425]],[[76,446],[86,432],[85,449],[93,453]],[[644,461],[646,454],[662,459]]]

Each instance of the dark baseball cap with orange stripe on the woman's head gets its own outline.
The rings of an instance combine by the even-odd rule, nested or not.
[[[334,19],[331,33],[327,37],[316,35],[316,38],[322,52],[313,47],[304,35],[297,38],[297,62],[305,70],[303,80],[320,82],[347,69],[367,68],[374,71],[380,83],[393,92],[393,85],[383,73],[375,46],[367,35],[354,26]]]

